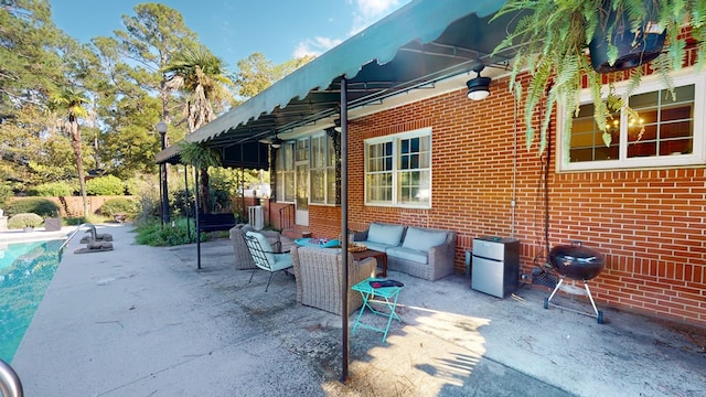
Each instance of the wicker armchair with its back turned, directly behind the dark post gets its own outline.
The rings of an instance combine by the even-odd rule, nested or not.
[[[292,247],[291,256],[297,278],[297,303],[341,315],[343,266],[339,249]],[[355,261],[349,254],[349,315],[363,305],[361,294],[351,287],[375,277],[376,268],[374,258]]]

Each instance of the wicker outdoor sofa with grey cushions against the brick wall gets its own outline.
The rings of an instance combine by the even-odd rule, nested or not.
[[[456,232],[428,227],[371,223],[354,233],[354,242],[387,255],[387,269],[438,280],[453,273]]]

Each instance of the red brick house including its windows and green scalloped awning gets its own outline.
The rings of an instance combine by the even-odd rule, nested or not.
[[[676,101],[645,77],[631,97],[644,116],[639,138],[625,122],[606,148],[581,114],[571,142],[554,122],[538,155],[525,148],[523,106],[509,90],[511,53],[488,57],[503,30],[486,15],[503,1],[466,2],[413,2],[188,139],[223,148],[232,164],[260,154],[249,160],[272,167],[270,223],[335,237],[343,207],[332,127],[341,119],[350,229],[373,221],[453,229],[459,273],[478,236],[518,238],[526,273],[547,247],[580,240],[606,258],[591,280],[599,305],[706,325],[706,74],[674,76]],[[427,24],[419,32],[417,20]],[[470,100],[478,63],[493,77],[491,95]],[[267,147],[276,140],[281,147]],[[284,225],[290,210],[293,224]]]

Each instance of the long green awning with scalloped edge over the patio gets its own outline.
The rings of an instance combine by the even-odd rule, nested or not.
[[[238,153],[266,153],[267,144],[255,142],[339,114],[343,77],[350,110],[467,74],[479,62],[506,65],[512,50],[490,57],[513,22],[489,23],[504,2],[411,1],[184,139],[220,149],[225,167],[266,168],[266,155]],[[178,160],[176,146],[157,154],[158,163]]]

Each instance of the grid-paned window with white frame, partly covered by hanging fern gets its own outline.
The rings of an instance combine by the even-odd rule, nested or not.
[[[593,121],[590,94],[573,120],[568,146],[560,148],[560,170],[629,169],[703,164],[704,74],[674,77],[675,97],[655,78],[645,78],[632,95],[624,95],[634,114],[625,110],[608,121],[610,146]],[[637,115],[637,116],[635,116]],[[560,135],[564,139],[564,135]],[[568,150],[566,148],[568,147]]]

